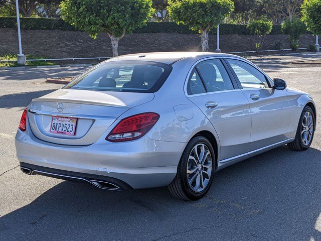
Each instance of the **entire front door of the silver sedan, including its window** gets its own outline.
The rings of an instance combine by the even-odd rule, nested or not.
[[[251,64],[235,59],[227,59],[227,62],[250,103],[252,128],[249,151],[284,141],[290,118],[286,93],[271,88],[267,76]]]

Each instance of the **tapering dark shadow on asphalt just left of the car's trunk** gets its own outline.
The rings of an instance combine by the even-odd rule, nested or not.
[[[27,107],[34,98],[39,98],[49,94],[56,89],[46,89],[41,91],[20,92],[14,94],[4,94],[0,96],[0,108]]]

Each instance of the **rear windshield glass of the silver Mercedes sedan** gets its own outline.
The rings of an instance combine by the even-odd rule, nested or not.
[[[172,66],[147,61],[114,61],[98,64],[64,88],[123,92],[155,92]]]

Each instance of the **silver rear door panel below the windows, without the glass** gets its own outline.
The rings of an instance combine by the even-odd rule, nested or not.
[[[249,102],[241,90],[192,96],[195,103],[213,124],[221,145],[219,160],[246,153],[251,143]],[[217,103],[206,107],[206,103]]]

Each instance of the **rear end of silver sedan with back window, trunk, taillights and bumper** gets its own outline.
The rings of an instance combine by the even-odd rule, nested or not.
[[[152,101],[170,73],[160,63],[107,62],[34,99],[16,135],[21,170],[111,190],[168,185],[184,144],[145,135],[162,113],[126,111]]]

